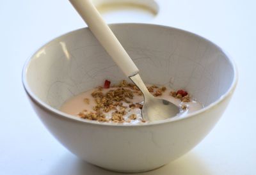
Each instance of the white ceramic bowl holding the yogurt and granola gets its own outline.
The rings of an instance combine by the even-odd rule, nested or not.
[[[236,68],[220,47],[196,34],[150,24],[110,26],[145,82],[186,89],[204,109],[143,125],[98,123],[60,112],[65,100],[105,79],[125,79],[88,28],[40,48],[24,66],[24,88],[52,135],[86,162],[122,172],[156,169],[211,131],[236,87]]]

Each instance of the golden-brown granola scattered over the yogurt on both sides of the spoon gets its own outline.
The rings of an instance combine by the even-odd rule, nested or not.
[[[188,92],[181,89],[170,91],[165,86],[156,85],[147,86],[147,89],[156,97],[177,99],[172,101],[180,106],[180,112],[188,112],[191,102]],[[103,86],[90,92],[90,96],[83,98],[84,109],[76,113],[79,118],[111,123],[147,122],[141,117],[143,95],[135,84],[122,80],[118,84],[111,85],[109,80],[105,80]]]

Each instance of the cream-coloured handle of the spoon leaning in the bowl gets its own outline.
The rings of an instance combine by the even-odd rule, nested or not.
[[[104,22],[91,0],[69,0],[116,65],[127,77],[139,72],[131,57]]]

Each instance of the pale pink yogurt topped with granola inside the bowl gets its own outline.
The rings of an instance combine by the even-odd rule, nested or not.
[[[184,97],[179,96],[173,89],[159,88],[159,86],[150,84],[147,84],[147,87],[152,95],[164,98],[180,107],[180,113],[176,117],[202,109],[202,105],[189,95],[182,102]],[[142,106],[143,95],[141,91],[134,84],[128,85],[125,82],[125,86],[99,87],[85,91],[68,99],[67,102],[63,103],[60,110],[73,116],[99,122],[137,124],[147,122],[141,117]]]

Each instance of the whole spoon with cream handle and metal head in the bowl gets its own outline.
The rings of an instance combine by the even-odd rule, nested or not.
[[[168,119],[179,113],[179,107],[172,102],[156,98],[150,94],[141,80],[139,70],[127,54],[124,47],[117,40],[115,34],[108,27],[90,0],[69,0],[77,12],[86,22],[92,33],[99,40],[104,49],[112,57],[116,65],[129,77],[143,93],[144,105],[142,117],[147,121]]]

